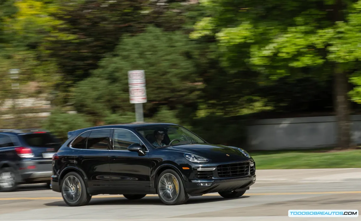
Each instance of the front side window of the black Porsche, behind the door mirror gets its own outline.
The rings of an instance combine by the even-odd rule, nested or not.
[[[134,143],[140,144],[140,140],[134,133],[123,129],[114,129],[114,150],[127,150],[128,146]]]

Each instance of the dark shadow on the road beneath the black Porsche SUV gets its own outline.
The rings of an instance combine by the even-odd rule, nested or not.
[[[227,201],[227,200],[235,200],[248,198],[249,196],[242,196],[234,199],[225,199],[219,196],[197,196],[190,197],[186,204],[200,204],[200,203],[210,203],[210,202],[219,202],[219,201]],[[64,201],[56,201],[52,203],[45,203],[44,205],[49,207],[68,207],[68,205]],[[164,205],[157,196],[145,197],[140,200],[128,200],[123,197],[106,199],[106,198],[93,198],[90,203],[91,205]]]

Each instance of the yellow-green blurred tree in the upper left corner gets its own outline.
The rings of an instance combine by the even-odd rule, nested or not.
[[[1,74],[7,75],[10,68],[19,68],[21,88],[26,89],[29,82],[38,84],[35,94],[23,90],[23,96],[50,94],[55,85],[61,82],[62,73],[56,61],[50,58],[46,46],[53,40],[74,38],[74,35],[58,31],[58,27],[66,24],[52,16],[60,10],[56,1],[8,0],[1,1],[0,8]],[[8,76],[3,79],[6,78]]]

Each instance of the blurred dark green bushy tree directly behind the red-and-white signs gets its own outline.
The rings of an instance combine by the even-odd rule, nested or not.
[[[75,108],[98,119],[134,111],[129,103],[127,72],[139,69],[145,70],[147,83],[145,117],[151,117],[160,106],[175,109],[196,99],[199,85],[195,84],[192,46],[187,35],[153,26],[136,36],[124,36],[91,77],[77,84]]]

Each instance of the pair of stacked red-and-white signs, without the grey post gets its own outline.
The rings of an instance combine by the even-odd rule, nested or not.
[[[129,101],[130,103],[147,102],[144,70],[128,71]]]

